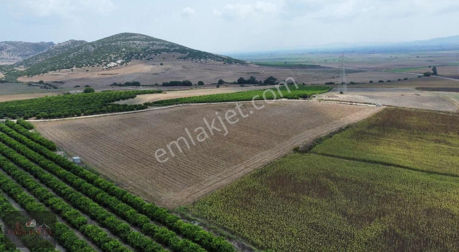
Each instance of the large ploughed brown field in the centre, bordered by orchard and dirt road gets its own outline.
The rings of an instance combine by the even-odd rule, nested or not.
[[[224,115],[234,103],[187,105],[135,114],[35,122],[37,129],[71,155],[94,166],[102,175],[129,191],[169,208],[192,203],[252,170],[342,126],[372,115],[381,108],[307,101],[276,101],[252,115],[243,103],[237,123],[214,135],[207,130],[216,112]],[[262,104],[262,102],[258,102]],[[253,110],[253,108],[252,108]],[[237,111],[237,110],[236,110]],[[224,118],[223,118],[224,120]],[[205,128],[209,138],[196,141],[194,129]],[[216,119],[215,126],[222,128]],[[196,145],[174,148],[167,162],[155,158],[158,148],[179,137]],[[199,133],[200,131],[198,131]],[[201,133],[201,137],[203,137]]]

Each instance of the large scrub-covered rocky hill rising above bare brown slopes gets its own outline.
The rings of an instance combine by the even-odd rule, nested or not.
[[[245,64],[245,61],[231,57],[191,49],[138,33],[119,33],[90,43],[83,43],[74,48],[62,51],[52,57],[42,57],[46,51],[34,57],[42,59],[33,65],[18,62],[16,65],[28,66],[21,76],[56,71],[59,69],[81,68],[84,66],[104,66],[112,68],[128,63],[131,60],[151,60],[162,54],[172,54],[179,60],[220,61],[226,64]]]

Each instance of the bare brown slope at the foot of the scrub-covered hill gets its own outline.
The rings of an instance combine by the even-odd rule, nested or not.
[[[158,57],[161,58],[161,57]],[[246,66],[236,64],[222,64],[221,62],[195,62],[186,60],[174,60],[165,57],[161,61],[133,60],[128,66],[117,66],[113,69],[103,70],[99,67],[83,67],[71,70],[51,71],[34,77],[19,77],[22,82],[45,82],[64,81],[61,87],[71,88],[76,85],[101,88],[107,87],[113,82],[139,81],[144,85],[169,81],[190,80],[193,83],[215,83],[219,79],[234,82],[239,77],[257,77],[264,80],[269,76],[278,79],[294,77],[297,82],[307,82],[318,78],[329,78],[339,74],[339,69],[314,68],[308,71],[294,72],[289,67],[267,67],[248,64]],[[163,63],[161,66],[160,64]],[[86,71],[88,70],[88,71]],[[295,74],[295,75],[294,75]]]

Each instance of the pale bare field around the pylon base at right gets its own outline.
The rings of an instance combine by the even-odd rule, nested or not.
[[[425,110],[455,112],[459,110],[455,93],[431,92],[415,88],[347,88],[345,94],[333,89],[315,99],[341,100],[356,103],[372,103]]]

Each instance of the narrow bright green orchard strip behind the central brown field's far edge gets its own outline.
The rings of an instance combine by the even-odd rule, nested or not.
[[[323,86],[304,86],[298,85],[298,89],[294,85],[290,85],[290,93],[287,91],[285,86],[280,87],[280,92],[282,93],[283,97],[286,99],[300,99],[300,98],[309,98],[309,96],[313,94],[325,93],[330,90],[330,87],[323,87]],[[219,94],[208,94],[208,95],[201,95],[201,96],[192,96],[192,97],[184,97],[184,98],[176,98],[176,99],[166,99],[166,100],[159,100],[154,102],[147,102],[144,105],[156,105],[156,106],[165,106],[165,105],[174,105],[174,104],[188,104],[188,103],[213,103],[213,102],[237,102],[237,101],[251,101],[255,96],[255,100],[262,100],[263,93],[265,92],[266,99],[280,99],[280,94],[278,93],[277,89],[272,87],[269,88],[274,91],[275,97],[273,92],[265,92],[265,90],[250,90],[250,91],[241,91],[235,93],[219,93]]]

